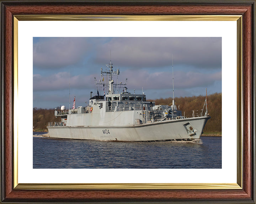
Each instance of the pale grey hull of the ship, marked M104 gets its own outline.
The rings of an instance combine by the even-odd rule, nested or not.
[[[50,137],[101,141],[189,141],[200,138],[209,116],[127,126],[50,126]]]

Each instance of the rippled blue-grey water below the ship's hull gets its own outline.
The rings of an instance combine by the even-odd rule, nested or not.
[[[33,137],[33,168],[222,168],[222,137],[201,140],[105,142]]]

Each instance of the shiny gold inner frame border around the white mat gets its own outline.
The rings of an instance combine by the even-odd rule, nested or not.
[[[18,183],[18,21],[236,21],[237,183]],[[242,189],[242,16],[241,15],[14,15],[14,189]]]

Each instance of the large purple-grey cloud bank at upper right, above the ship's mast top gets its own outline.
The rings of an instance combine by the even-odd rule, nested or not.
[[[118,66],[161,67],[174,63],[195,68],[220,68],[221,38],[112,38],[97,47],[97,63],[110,58]]]

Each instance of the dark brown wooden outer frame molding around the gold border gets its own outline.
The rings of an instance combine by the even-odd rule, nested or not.
[[[256,203],[255,0],[86,1],[0,0],[1,200],[0,203]],[[242,189],[15,189],[15,15],[242,15]]]

